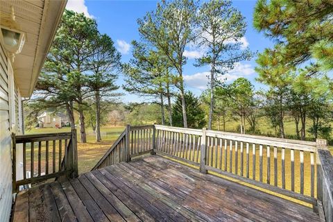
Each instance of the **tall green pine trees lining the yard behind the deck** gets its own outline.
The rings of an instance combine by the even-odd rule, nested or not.
[[[253,25],[275,45],[256,54],[241,43],[246,22],[231,1],[161,1],[137,19],[140,39],[132,42],[133,58],[121,63],[114,42],[99,33],[94,19],[66,10],[29,102],[35,112],[29,115],[62,108],[74,128],[78,113],[81,142],[86,142],[87,122],[99,141],[103,113],[120,96],[115,80],[121,73],[123,89],[159,105],[162,124],[200,128],[207,123],[212,129],[217,122],[220,129],[222,122],[225,130],[233,118],[240,133],[256,133],[258,118],[266,117],[284,138],[284,121],[292,117],[299,139],[309,132],[326,137],[332,130],[332,11],[328,0],[257,1]],[[187,49],[201,52],[196,67],[210,68],[207,90],[199,98],[186,90]],[[225,82],[237,62],[254,56],[257,81],[266,89],[255,91],[246,78]]]

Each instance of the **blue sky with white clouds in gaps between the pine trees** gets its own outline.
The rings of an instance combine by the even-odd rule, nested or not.
[[[142,18],[146,12],[154,10],[157,1],[110,1],[110,0],[69,0],[67,8],[77,12],[84,12],[85,15],[96,19],[99,31],[108,34],[114,40],[117,49],[121,52],[122,61],[127,62],[131,58],[130,42],[139,40],[137,31],[137,19]],[[233,6],[241,11],[246,17],[247,30],[245,38],[242,40],[244,46],[248,46],[251,51],[261,52],[266,47],[273,46],[273,42],[264,37],[263,33],[258,33],[253,28],[253,10],[255,0],[233,1]],[[187,90],[200,95],[207,85],[209,67],[194,67],[194,58],[200,55],[200,51],[187,49],[187,65],[184,67],[185,85]],[[234,70],[226,75],[227,81],[244,76],[248,78],[256,89],[264,87],[255,81],[255,58],[250,61],[240,62]],[[123,84],[122,76],[117,81],[119,85]],[[140,102],[144,98],[126,94],[123,96],[124,102]]]

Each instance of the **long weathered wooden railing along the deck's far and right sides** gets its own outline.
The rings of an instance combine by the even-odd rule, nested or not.
[[[205,128],[128,125],[94,169],[144,153],[168,156],[202,173],[219,173],[302,200],[319,212],[322,203],[325,215],[332,214],[333,159],[325,139],[305,142]]]

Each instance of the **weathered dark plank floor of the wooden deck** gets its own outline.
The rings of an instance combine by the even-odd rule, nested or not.
[[[158,155],[20,192],[14,221],[319,221],[310,208]]]

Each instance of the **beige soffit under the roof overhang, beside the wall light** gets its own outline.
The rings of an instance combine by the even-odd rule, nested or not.
[[[12,65],[15,82],[23,97],[30,97],[44,65],[67,0],[0,0],[1,18],[8,17],[11,6],[16,22],[26,33],[22,52]]]

